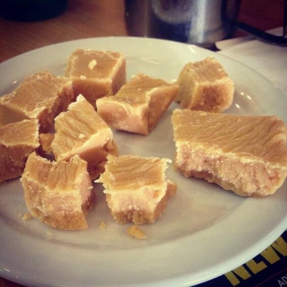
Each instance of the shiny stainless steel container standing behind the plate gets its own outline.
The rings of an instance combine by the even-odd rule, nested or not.
[[[130,36],[212,47],[232,36],[240,0],[126,0]]]

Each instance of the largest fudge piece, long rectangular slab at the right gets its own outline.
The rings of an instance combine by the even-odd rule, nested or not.
[[[273,194],[287,175],[286,129],[275,116],[176,109],[176,168],[244,196]]]

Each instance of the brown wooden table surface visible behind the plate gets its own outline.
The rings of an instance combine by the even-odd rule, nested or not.
[[[283,2],[242,0],[239,20],[261,30],[281,26]],[[235,37],[243,35],[237,32]],[[128,36],[123,0],[69,0],[63,14],[43,21],[19,22],[0,17],[0,63],[46,45],[104,36]],[[21,285],[0,278],[0,287],[8,286]]]

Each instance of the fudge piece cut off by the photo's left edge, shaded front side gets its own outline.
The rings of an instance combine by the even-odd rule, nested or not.
[[[38,147],[37,120],[0,126],[0,183],[21,176],[28,155]]]

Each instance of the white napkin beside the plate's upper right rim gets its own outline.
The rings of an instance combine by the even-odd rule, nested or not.
[[[282,35],[282,27],[268,31]],[[287,47],[275,46],[252,36],[215,43],[218,53],[262,74],[287,96]]]

